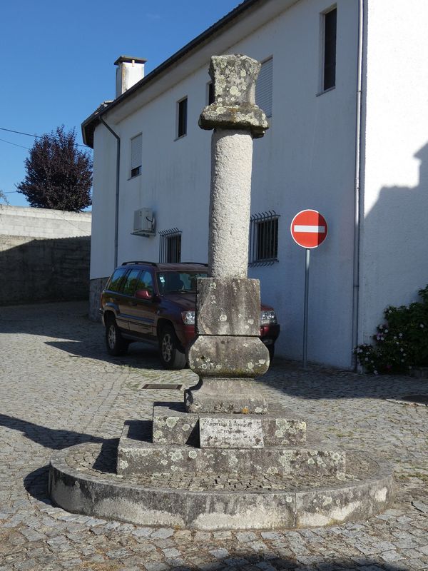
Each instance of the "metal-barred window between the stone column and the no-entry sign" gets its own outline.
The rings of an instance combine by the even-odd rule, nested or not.
[[[251,216],[249,266],[270,266],[278,261],[279,218],[275,211]]]

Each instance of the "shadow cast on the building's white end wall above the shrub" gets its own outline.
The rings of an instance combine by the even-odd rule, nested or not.
[[[382,188],[364,221],[366,336],[382,323],[387,305],[417,300],[417,290],[428,283],[428,144],[414,156],[421,161],[417,186]]]

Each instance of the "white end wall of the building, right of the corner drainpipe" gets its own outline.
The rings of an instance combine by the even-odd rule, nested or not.
[[[428,2],[368,4],[360,341],[428,283]]]

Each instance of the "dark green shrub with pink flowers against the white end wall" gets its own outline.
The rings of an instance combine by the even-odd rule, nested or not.
[[[377,325],[374,344],[358,345],[354,353],[369,373],[407,373],[414,366],[428,365],[428,285],[419,290],[421,302],[389,305],[385,323]]]

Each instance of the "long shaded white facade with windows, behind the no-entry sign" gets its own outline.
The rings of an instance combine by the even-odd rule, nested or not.
[[[317,96],[320,14],[330,6],[329,0],[301,0],[223,53],[274,58],[272,126],[254,142],[251,211],[280,214],[280,262],[251,268],[250,276],[260,278],[263,300],[277,310],[282,325],[277,353],[301,358],[305,251],[292,241],[290,222],[303,208],[315,208],[330,228],[327,241],[311,256],[308,358],[349,367],[357,1],[337,1],[336,89]],[[183,261],[207,260],[210,133],[201,131],[197,121],[206,101],[208,60],[209,54],[202,67],[121,121],[113,123],[114,111],[106,115],[123,148],[119,263],[158,260],[158,236],[131,236],[133,211],[143,207],[156,212],[157,231],[183,231]],[[189,70],[187,63],[183,74]],[[175,141],[175,102],[186,95],[188,134]],[[142,174],[128,180],[130,141],[138,133],[143,134]],[[113,269],[115,145],[106,128],[98,126],[91,278]]]

